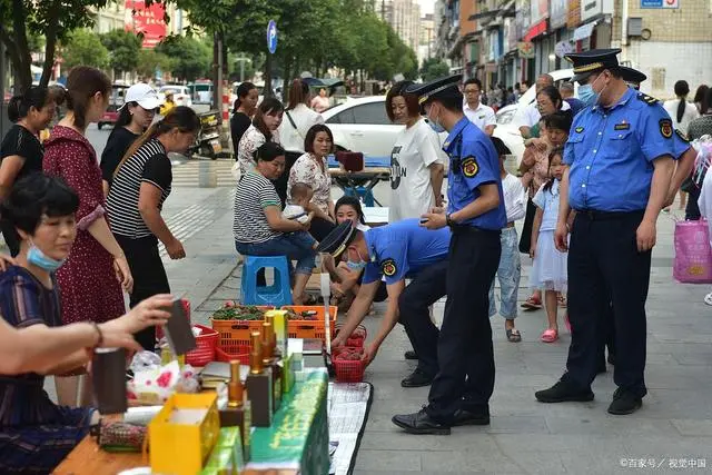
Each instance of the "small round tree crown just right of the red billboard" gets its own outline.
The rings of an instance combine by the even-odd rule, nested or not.
[[[195,81],[209,73],[212,48],[191,36],[168,37],[156,52],[170,58],[170,72],[177,79]]]

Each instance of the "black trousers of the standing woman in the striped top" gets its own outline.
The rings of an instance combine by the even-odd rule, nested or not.
[[[158,254],[158,241],[154,237],[129,239],[113,235],[121,246],[134,276],[134,291],[129,305],[136,307],[141,300],[157,294],[169,294],[170,286],[166,268]],[[156,349],[156,327],[148,327],[135,335],[136,340],[149,352]]]

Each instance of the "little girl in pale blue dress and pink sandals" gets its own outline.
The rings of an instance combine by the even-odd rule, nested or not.
[[[558,339],[557,293],[566,291],[566,255],[556,250],[554,231],[558,220],[558,186],[563,174],[563,149],[554,148],[548,155],[550,179],[538,189],[533,198],[536,215],[532,227],[532,246],[530,257],[534,259],[530,285],[544,290],[544,306],[548,319],[548,328],[542,334],[542,342],[553,343]]]

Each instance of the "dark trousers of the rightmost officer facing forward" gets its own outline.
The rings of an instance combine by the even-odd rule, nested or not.
[[[591,386],[611,319],[615,337],[615,384],[646,394],[645,300],[651,251],[639,253],[635,232],[643,211],[578,212],[568,248],[568,319],[572,327],[563,380]]]

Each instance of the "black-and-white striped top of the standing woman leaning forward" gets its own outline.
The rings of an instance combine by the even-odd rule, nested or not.
[[[164,145],[151,139],[139,147],[119,168],[107,197],[107,212],[111,231],[130,239],[152,236],[138,210],[142,182],[160,189],[158,209],[170,195],[172,170]]]

